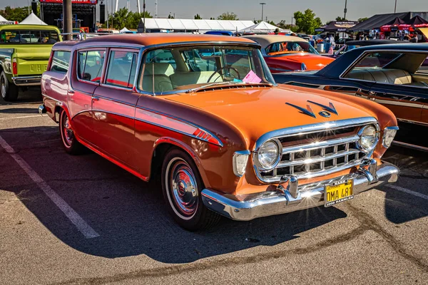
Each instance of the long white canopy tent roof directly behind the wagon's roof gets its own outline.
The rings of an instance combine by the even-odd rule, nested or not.
[[[226,21],[226,20],[192,20],[192,19],[146,19],[146,31],[180,31],[193,32],[198,31],[240,31],[249,26],[253,26],[253,21]],[[138,25],[138,32],[142,33],[144,21],[141,19]]]

